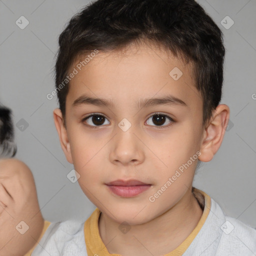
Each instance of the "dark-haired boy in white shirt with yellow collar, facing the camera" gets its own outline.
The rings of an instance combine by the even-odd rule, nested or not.
[[[192,187],[222,142],[222,33],[194,0],[97,0],[59,36],[53,111],[96,209],[42,255],[255,255],[256,230]],[[158,122],[158,123],[157,123]]]

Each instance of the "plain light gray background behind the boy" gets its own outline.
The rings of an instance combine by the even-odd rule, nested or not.
[[[256,227],[256,1],[198,2],[224,33],[221,103],[230,107],[231,122],[214,158],[201,163],[194,186],[212,196],[227,215]],[[43,217],[49,221],[86,219],[95,208],[78,183],[66,177],[73,166],[65,159],[53,123],[57,99],[46,98],[54,89],[57,37],[87,3],[0,0],[0,101],[18,123],[16,157],[31,168]],[[21,15],[29,21],[24,29],[15,24]],[[220,23],[226,15],[234,21],[229,29]],[[22,118],[27,127],[20,127]]]

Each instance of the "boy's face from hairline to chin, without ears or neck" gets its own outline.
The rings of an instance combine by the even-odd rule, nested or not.
[[[182,71],[179,78],[173,71],[177,80],[169,74],[174,67]],[[65,155],[80,175],[83,192],[114,221],[147,222],[179,202],[191,187],[203,139],[202,99],[191,73],[189,65],[166,52],[141,45],[138,50],[127,48],[125,56],[99,52],[72,78],[66,97]],[[82,102],[85,96],[113,105]],[[167,96],[185,105],[137,104]],[[92,113],[100,116],[83,120]],[[151,186],[124,197],[106,185],[116,179]]]

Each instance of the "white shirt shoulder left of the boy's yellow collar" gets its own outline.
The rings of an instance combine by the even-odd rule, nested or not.
[[[84,221],[65,220],[61,222],[49,222],[39,244],[35,247],[31,256],[44,256],[48,253],[61,252],[65,255],[86,254],[86,246],[83,232]]]

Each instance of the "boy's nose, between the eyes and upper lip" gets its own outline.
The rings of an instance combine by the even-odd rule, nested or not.
[[[143,143],[131,127],[123,131],[117,126],[109,154],[114,164],[137,165],[144,160]]]

